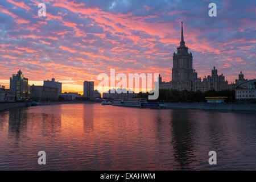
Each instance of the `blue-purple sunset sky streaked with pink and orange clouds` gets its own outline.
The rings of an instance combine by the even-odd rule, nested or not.
[[[217,16],[210,17],[209,3]],[[46,16],[38,16],[39,3]],[[199,77],[233,82],[256,78],[256,1],[1,0],[0,85],[21,69],[30,84],[63,82],[82,93],[83,81],[115,73],[159,73],[171,80],[172,55],[184,41]],[[95,87],[97,88],[97,87]]]

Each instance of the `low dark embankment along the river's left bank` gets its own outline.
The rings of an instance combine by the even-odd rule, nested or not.
[[[39,102],[39,106],[43,105],[58,105],[58,104],[94,104],[100,102],[88,102],[88,101],[68,101],[68,102]],[[16,107],[25,107],[25,102],[4,102],[0,103],[0,111],[6,109],[12,109]]]

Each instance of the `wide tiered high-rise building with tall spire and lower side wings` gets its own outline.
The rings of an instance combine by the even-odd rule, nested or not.
[[[207,92],[208,90],[234,90],[236,84],[228,84],[223,74],[218,75],[217,69],[213,67],[212,75],[201,78],[197,77],[197,72],[193,68],[192,53],[188,53],[188,47],[185,46],[183,38],[183,23],[181,22],[181,41],[177,47],[177,53],[174,52],[172,81],[164,82],[159,75],[159,89],[176,89]],[[242,73],[241,73],[242,74]],[[240,79],[241,77],[239,77]],[[243,76],[242,76],[243,79]],[[244,80],[239,80],[244,81]]]

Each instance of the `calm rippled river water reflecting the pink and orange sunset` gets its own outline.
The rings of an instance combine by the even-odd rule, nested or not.
[[[255,117],[100,104],[10,109],[0,112],[0,170],[256,169]]]

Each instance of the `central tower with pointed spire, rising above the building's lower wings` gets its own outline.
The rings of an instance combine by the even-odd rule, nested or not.
[[[193,69],[193,56],[191,52],[188,53],[188,47],[185,46],[183,22],[181,22],[181,41],[177,53],[174,52],[173,56],[172,81],[186,82],[195,77],[197,73]]]

